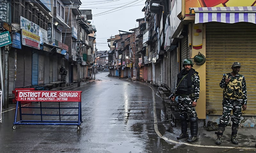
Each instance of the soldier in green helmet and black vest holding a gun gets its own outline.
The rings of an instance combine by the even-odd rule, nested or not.
[[[176,96],[178,96],[178,106],[180,109],[180,120],[181,120],[181,134],[177,139],[182,139],[188,137],[187,132],[187,116],[189,116],[190,122],[190,133],[191,137],[187,142],[194,142],[198,140],[198,123],[197,123],[197,113],[196,113],[196,101],[199,98],[200,91],[200,80],[198,72],[193,69],[193,63],[190,59],[185,59],[183,61],[183,67],[178,74],[176,91],[171,97],[174,101]]]

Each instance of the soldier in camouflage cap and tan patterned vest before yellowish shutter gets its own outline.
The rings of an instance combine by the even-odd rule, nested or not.
[[[231,73],[224,74],[222,80],[220,81],[220,88],[223,90],[223,112],[220,118],[218,131],[215,132],[217,139],[215,144],[221,144],[221,137],[225,131],[225,127],[228,125],[231,110],[233,110],[233,115],[231,117],[232,121],[232,133],[231,142],[233,144],[238,144],[236,140],[236,135],[238,131],[238,126],[241,121],[242,109],[246,110],[247,103],[247,91],[245,77],[238,72],[240,71],[241,64],[239,62],[234,62],[231,69]]]

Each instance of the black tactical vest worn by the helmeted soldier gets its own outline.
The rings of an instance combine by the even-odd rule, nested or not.
[[[194,74],[193,74],[194,75]],[[182,76],[183,77],[183,76]],[[178,85],[178,87],[176,88],[177,90],[177,95],[190,95],[190,94],[194,94],[195,93],[195,88],[194,85],[188,87],[188,79],[192,80],[192,76],[191,78],[187,76],[185,76],[181,81],[180,84]]]

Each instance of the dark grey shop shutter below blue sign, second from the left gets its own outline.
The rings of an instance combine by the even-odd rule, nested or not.
[[[24,51],[18,50],[15,88],[23,88],[23,87],[24,87]]]

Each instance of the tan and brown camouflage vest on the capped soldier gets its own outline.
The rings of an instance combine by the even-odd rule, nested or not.
[[[228,77],[231,74],[226,74]],[[236,77],[229,77],[229,83],[223,90],[224,98],[228,99],[242,99],[244,96],[244,93],[242,91],[242,81],[243,76],[241,74],[238,74],[239,77],[236,79]]]

